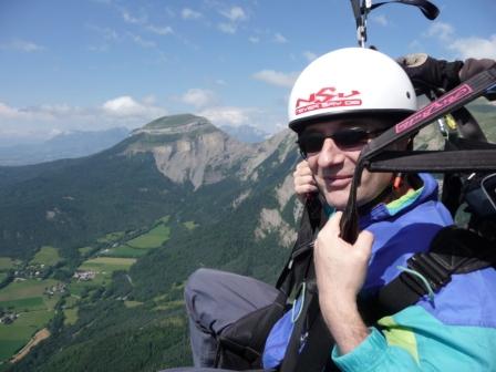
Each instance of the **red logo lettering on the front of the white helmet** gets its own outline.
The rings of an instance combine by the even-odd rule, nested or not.
[[[338,92],[333,86],[322,87],[319,92],[310,94],[308,99],[298,99],[296,114],[300,115],[310,111],[329,107],[360,106],[362,100],[359,96],[360,92],[355,90]]]

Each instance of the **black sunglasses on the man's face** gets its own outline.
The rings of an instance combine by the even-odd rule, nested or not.
[[[326,138],[332,138],[340,148],[350,148],[364,144],[368,140],[384,131],[385,128],[366,131],[362,127],[351,127],[329,135],[319,132],[303,132],[298,137],[297,144],[300,146],[303,157],[307,157],[308,154],[319,153]]]

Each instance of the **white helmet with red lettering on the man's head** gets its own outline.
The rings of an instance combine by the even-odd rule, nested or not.
[[[364,48],[339,49],[310,63],[294,83],[288,105],[289,126],[296,132],[334,115],[402,118],[415,110],[415,91],[403,69]]]

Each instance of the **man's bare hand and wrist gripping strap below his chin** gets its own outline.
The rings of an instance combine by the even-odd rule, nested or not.
[[[313,251],[322,317],[341,354],[369,334],[358,312],[356,294],[365,281],[373,235],[360,232],[354,245],[339,237],[342,213],[335,213],[319,232]]]

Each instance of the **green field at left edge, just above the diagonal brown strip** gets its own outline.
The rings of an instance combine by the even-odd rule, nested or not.
[[[53,314],[53,311],[48,310],[22,312],[13,323],[0,324],[0,361],[18,352]]]

